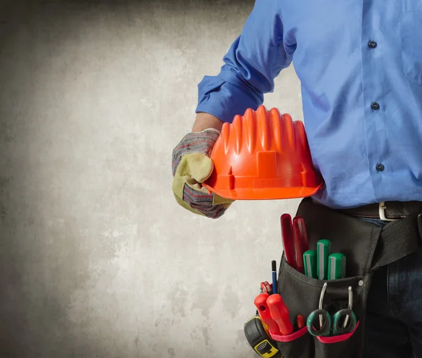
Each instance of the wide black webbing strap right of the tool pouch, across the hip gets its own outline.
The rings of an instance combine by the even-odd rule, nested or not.
[[[413,215],[384,226],[373,255],[372,268],[390,264],[416,251],[421,240],[422,215]]]

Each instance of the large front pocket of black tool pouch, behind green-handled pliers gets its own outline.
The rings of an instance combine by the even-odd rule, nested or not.
[[[350,333],[330,336],[311,335],[306,328],[307,333],[302,335],[302,348],[300,354],[291,357],[317,357],[317,358],[352,358],[359,357],[362,350],[362,332],[360,319],[364,317],[364,297],[366,297],[366,288],[369,284],[369,276],[353,276],[338,280],[319,280],[302,274],[290,267],[285,257],[281,259],[279,270],[279,293],[288,307],[290,321],[294,322],[298,314],[305,317],[319,308],[319,298],[324,283],[327,283],[326,293],[324,295],[323,308],[331,315],[331,319],[340,309],[347,308],[348,288],[352,287],[353,305],[352,311],[356,315],[357,324]],[[303,329],[303,328],[302,328]],[[274,338],[274,337],[273,337]],[[275,338],[274,338],[275,339]],[[279,340],[276,339],[278,344]],[[295,344],[286,343],[286,350],[297,352],[300,347]],[[283,353],[280,345],[280,351]],[[289,357],[289,356],[286,356]]]

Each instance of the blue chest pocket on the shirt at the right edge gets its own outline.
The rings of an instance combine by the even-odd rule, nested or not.
[[[404,75],[422,86],[422,11],[402,13],[401,37]]]

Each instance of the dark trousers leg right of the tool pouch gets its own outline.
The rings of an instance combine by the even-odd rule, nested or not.
[[[364,358],[376,357],[422,358],[422,246],[373,276]]]

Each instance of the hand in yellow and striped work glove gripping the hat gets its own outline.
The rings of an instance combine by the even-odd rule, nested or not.
[[[195,214],[217,219],[233,200],[210,194],[201,183],[214,170],[210,158],[219,137],[217,129],[188,133],[173,150],[173,193],[177,203]]]

